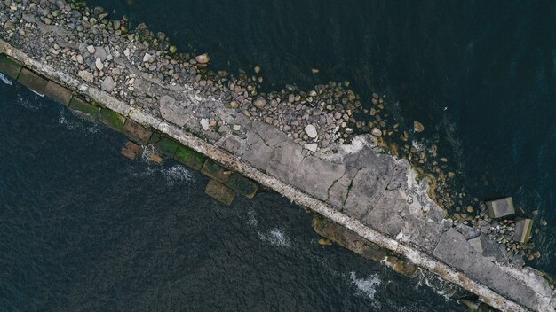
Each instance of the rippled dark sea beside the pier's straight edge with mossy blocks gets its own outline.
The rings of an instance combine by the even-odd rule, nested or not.
[[[221,206],[203,175],[128,160],[123,135],[16,83],[0,133],[0,311],[464,310],[436,277],[319,246],[280,195]]]

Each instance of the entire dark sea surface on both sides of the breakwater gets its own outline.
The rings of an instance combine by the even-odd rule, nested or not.
[[[385,94],[440,140],[468,196],[512,196],[556,275],[556,2],[95,0],[266,88]],[[320,74],[311,73],[319,68]],[[274,193],[221,207],[171,160],[0,82],[0,311],[464,310],[434,277],[318,246]],[[534,214],[535,212],[535,214]],[[542,225],[546,222],[547,225]]]

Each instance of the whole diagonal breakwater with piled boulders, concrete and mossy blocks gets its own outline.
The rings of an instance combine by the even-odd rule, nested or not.
[[[346,84],[259,94],[260,76],[211,73],[208,55],[178,56],[164,35],[144,26],[131,33],[125,20],[83,2],[7,0],[0,22],[4,73],[83,117],[192,168],[203,168],[198,153],[206,155],[220,172],[322,215],[315,230],[393,269],[427,269],[501,310],[555,310],[541,272],[515,261],[488,229],[454,224],[428,179],[384,153],[395,127],[370,121],[370,135],[355,135],[363,127],[353,116],[363,109]],[[376,115],[384,105],[373,103]]]

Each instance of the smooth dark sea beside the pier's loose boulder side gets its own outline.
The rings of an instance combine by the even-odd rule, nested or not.
[[[440,138],[468,198],[512,196],[556,275],[556,1],[94,0],[266,88],[352,83]],[[314,75],[311,68],[319,68]],[[274,85],[274,86],[273,86]],[[467,205],[462,201],[461,205]],[[464,206],[465,207],[465,206]],[[541,225],[547,222],[548,226]]]

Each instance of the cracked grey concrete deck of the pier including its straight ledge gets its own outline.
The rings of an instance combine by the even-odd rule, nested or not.
[[[63,33],[62,30],[58,31]],[[75,49],[75,43],[60,39],[59,44]],[[134,43],[126,44],[133,49]],[[24,66],[475,292],[495,308],[555,310],[555,294],[539,272],[507,266],[504,253],[493,253],[482,235],[470,238],[470,244],[469,236],[451,228],[444,211],[429,197],[426,179],[417,182],[417,174],[407,160],[381,153],[375,137],[358,136],[351,144],[330,144],[310,155],[279,129],[250,121],[241,112],[227,109],[218,98],[201,96],[187,85],[167,85],[149,78],[124,57],[123,48],[110,47],[110,51],[120,55],[115,64],[132,77],[129,82],[135,90],[145,90],[159,98],[155,103],[124,102],[102,91],[100,80],[86,82],[77,73],[68,74],[57,68],[56,58],[38,61],[26,54],[31,51],[20,51],[0,40],[0,52]],[[90,115],[98,113],[97,107],[78,100],[72,100],[69,106]],[[210,113],[216,113],[228,129],[204,130],[200,121]],[[179,147],[167,139],[157,146],[170,156]],[[207,169],[211,174],[218,173],[215,178],[226,179],[224,172]],[[221,186],[226,188],[218,184],[218,189]]]

